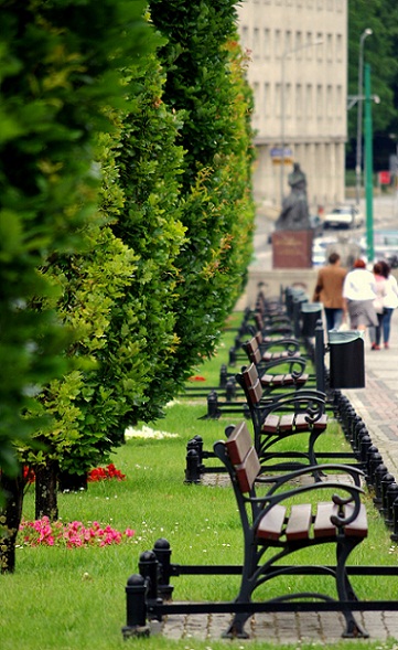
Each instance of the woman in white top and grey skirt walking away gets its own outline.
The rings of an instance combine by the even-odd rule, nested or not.
[[[352,330],[377,327],[378,320],[374,306],[376,280],[374,274],[367,270],[363,259],[356,259],[353,269],[345,276],[343,298],[344,313],[348,313]]]

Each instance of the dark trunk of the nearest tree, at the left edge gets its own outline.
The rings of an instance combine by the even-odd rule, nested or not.
[[[0,573],[15,571],[15,541],[22,518],[24,479],[22,467],[17,477],[0,473],[4,505],[0,509]]]

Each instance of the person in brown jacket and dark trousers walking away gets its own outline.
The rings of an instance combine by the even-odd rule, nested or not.
[[[344,299],[343,285],[347,271],[341,266],[338,253],[331,253],[329,264],[318,271],[314,302],[322,302],[326,318],[326,328],[337,330],[343,322]]]

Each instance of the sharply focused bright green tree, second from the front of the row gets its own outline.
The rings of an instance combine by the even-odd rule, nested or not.
[[[169,365],[179,344],[175,258],[184,242],[183,151],[175,145],[181,119],[161,99],[154,55],[126,67],[120,79],[128,109],[109,109],[114,131],[99,135],[97,149],[103,219],[86,228],[82,254],[55,259],[49,269],[61,287],[58,313],[76,333],[68,355],[85,365],[41,396],[55,426],[50,439],[39,431],[46,449],[29,450],[26,460],[39,479],[43,468],[46,497],[51,466],[78,481],[108,460],[127,426],[159,417],[175,394]],[[36,498],[36,516],[54,516],[54,501]]]

